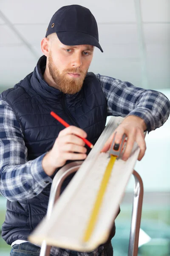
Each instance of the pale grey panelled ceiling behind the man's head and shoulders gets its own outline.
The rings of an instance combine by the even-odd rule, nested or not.
[[[170,0],[0,0],[0,90],[30,73],[40,41],[61,6],[91,10],[104,52],[89,71],[153,89],[170,88]]]

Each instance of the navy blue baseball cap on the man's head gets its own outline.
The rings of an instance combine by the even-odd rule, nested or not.
[[[54,13],[45,37],[56,32],[59,41],[65,45],[89,44],[98,47],[99,34],[95,17],[88,8],[80,5],[61,7]]]

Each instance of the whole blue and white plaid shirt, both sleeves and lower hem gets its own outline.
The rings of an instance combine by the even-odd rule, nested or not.
[[[133,86],[108,76],[96,75],[107,100],[108,116],[135,115],[144,119],[147,131],[159,128],[170,114],[170,102],[164,94]],[[0,100],[0,193],[9,201],[30,199],[42,192],[51,177],[42,169],[42,158],[27,160],[24,135],[17,117],[3,99]],[[100,246],[83,256],[99,256]],[[81,253],[79,253],[81,254]],[[69,250],[52,247],[51,255],[68,256]]]

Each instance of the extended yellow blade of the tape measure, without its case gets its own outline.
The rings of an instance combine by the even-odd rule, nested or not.
[[[105,190],[106,190],[106,187],[108,185],[108,181],[109,181],[109,178],[111,176],[111,171],[113,169],[113,165],[114,165],[115,160],[116,160],[116,156],[111,155],[111,159],[108,163],[108,166],[106,167],[105,174],[103,176],[103,179],[102,179],[102,182],[101,182],[101,185],[100,185],[100,189],[99,189],[99,192],[98,192],[97,197],[96,197],[96,202],[94,204],[94,208],[91,212],[91,216],[90,216],[90,219],[89,219],[89,222],[88,222],[87,229],[85,230],[85,235],[83,237],[84,242],[87,242],[90,239],[91,234],[93,233],[94,226],[96,224],[97,217],[98,217],[98,214],[99,214],[99,209],[100,209],[100,206],[102,204],[103,197],[105,195]]]

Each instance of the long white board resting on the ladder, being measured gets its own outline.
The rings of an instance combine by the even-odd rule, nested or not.
[[[45,240],[49,245],[83,252],[94,250],[108,239],[139,155],[137,144],[133,146],[132,154],[126,162],[116,160],[91,239],[85,243],[82,238],[110,160],[109,152],[100,151],[121,121],[119,117],[110,119],[94,148],[55,204],[50,221],[44,218],[31,233],[29,240],[32,243],[41,244]]]

